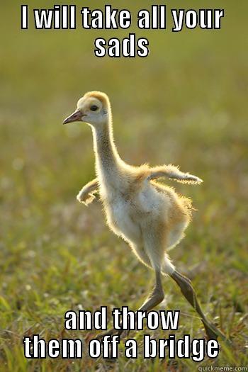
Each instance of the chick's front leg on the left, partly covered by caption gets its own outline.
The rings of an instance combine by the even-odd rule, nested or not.
[[[162,300],[164,300],[164,291],[163,291],[163,288],[162,288],[162,281],[161,281],[160,271],[156,270],[155,275],[156,276],[155,276],[154,289],[153,289],[152,293],[150,293],[150,295],[148,295],[147,299],[144,301],[144,303],[142,303],[142,305],[138,309],[140,311],[152,310],[152,308],[157,306],[159,303],[162,303]],[[107,332],[98,334],[98,336],[96,338],[101,339],[102,337],[106,336],[107,334],[110,334],[110,335],[118,334],[119,336],[121,336],[123,334],[128,334],[129,333],[128,329],[121,329],[121,328],[122,328],[122,324],[120,325],[120,329],[112,328]]]

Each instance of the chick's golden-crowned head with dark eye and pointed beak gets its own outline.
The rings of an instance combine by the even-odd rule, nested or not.
[[[83,121],[94,127],[108,123],[111,116],[111,105],[108,96],[100,91],[90,91],[77,102],[77,110],[69,115],[63,124]]]

